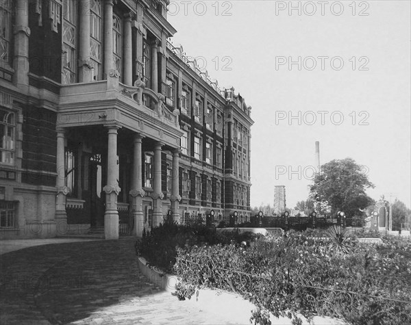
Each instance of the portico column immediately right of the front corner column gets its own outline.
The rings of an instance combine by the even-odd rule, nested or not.
[[[142,214],[142,198],[145,196],[142,190],[142,153],[141,153],[142,135],[134,135],[134,160],[133,160],[133,179],[132,190],[132,208],[134,218],[133,235],[142,237],[142,230],[144,229],[144,217]]]

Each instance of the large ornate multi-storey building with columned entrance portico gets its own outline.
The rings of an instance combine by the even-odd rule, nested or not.
[[[168,2],[0,1],[1,238],[249,216],[251,107],[171,44]]]

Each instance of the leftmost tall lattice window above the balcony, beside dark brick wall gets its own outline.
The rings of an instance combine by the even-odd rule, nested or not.
[[[62,83],[76,82],[77,75],[77,1],[63,1]]]

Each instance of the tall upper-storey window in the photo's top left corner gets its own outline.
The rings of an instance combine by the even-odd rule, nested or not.
[[[12,8],[12,0],[0,1],[0,62],[7,64],[11,62]]]

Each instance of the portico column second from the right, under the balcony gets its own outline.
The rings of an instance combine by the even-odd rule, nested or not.
[[[162,198],[164,194],[161,190],[161,142],[156,142],[154,146],[154,184],[153,184],[153,226],[158,226],[162,222]]]

